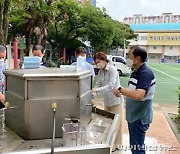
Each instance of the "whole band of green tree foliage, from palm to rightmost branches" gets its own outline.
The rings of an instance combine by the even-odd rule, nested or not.
[[[14,1],[10,24],[8,40],[25,36],[27,52],[30,44],[45,44],[46,40],[53,49],[75,49],[90,41],[96,51],[106,51],[122,46],[125,38],[134,37],[128,25],[112,20],[105,9],[75,0]]]

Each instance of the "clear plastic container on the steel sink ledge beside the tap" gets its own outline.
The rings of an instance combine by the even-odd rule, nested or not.
[[[80,146],[85,145],[86,129],[79,123],[63,124],[63,146]]]

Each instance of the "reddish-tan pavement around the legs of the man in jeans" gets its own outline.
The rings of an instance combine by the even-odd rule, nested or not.
[[[101,98],[95,99],[94,102],[97,107],[103,109]],[[147,131],[145,140],[146,154],[180,154],[180,142],[178,142],[165,116],[167,112],[177,113],[177,106],[153,104],[153,110],[153,122]],[[131,154],[125,118],[123,120],[123,145],[121,150],[112,154]]]

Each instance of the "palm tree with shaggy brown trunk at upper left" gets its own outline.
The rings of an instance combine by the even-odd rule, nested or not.
[[[23,0],[18,6],[13,6],[9,39],[15,35],[24,35],[26,38],[25,55],[29,55],[31,43],[45,44],[48,24],[51,20],[52,2],[52,0]]]

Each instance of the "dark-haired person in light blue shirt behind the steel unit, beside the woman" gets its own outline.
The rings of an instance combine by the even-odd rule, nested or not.
[[[86,58],[86,49],[84,47],[77,48],[75,52],[76,52],[76,57],[77,58],[79,56]],[[74,62],[71,65],[77,65],[77,62]],[[94,79],[94,77],[95,77],[94,68],[88,62],[86,62],[86,70],[90,70],[91,71],[91,74],[92,74],[93,79]]]

